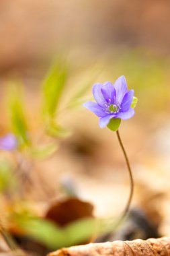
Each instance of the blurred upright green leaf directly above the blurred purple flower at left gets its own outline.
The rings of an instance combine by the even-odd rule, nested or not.
[[[9,115],[11,119],[11,127],[13,133],[19,140],[19,146],[28,146],[30,141],[28,139],[28,125],[26,122],[26,115],[24,113],[21,87],[9,85],[8,90],[8,105]]]

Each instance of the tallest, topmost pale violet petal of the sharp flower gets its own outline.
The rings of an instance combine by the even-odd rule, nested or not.
[[[124,98],[124,95],[126,94],[126,92],[128,92],[126,79],[124,75],[122,75],[116,80],[116,82],[114,83],[114,88],[116,90],[116,100],[118,103],[121,103]]]

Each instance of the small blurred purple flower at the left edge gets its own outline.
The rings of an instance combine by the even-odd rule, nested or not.
[[[15,150],[15,148],[17,148],[17,139],[12,133],[0,138],[0,150],[11,151]]]

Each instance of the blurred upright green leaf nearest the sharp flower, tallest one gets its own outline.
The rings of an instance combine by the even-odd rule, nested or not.
[[[65,88],[66,79],[66,67],[55,65],[50,69],[50,72],[43,83],[43,110],[45,116],[47,115],[50,119],[53,119],[56,114],[60,96]]]

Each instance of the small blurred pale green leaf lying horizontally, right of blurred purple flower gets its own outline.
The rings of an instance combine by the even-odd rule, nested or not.
[[[58,146],[56,144],[50,143],[46,146],[42,146],[39,148],[32,148],[30,153],[33,158],[41,160],[52,156],[52,154],[56,152],[57,148]]]

